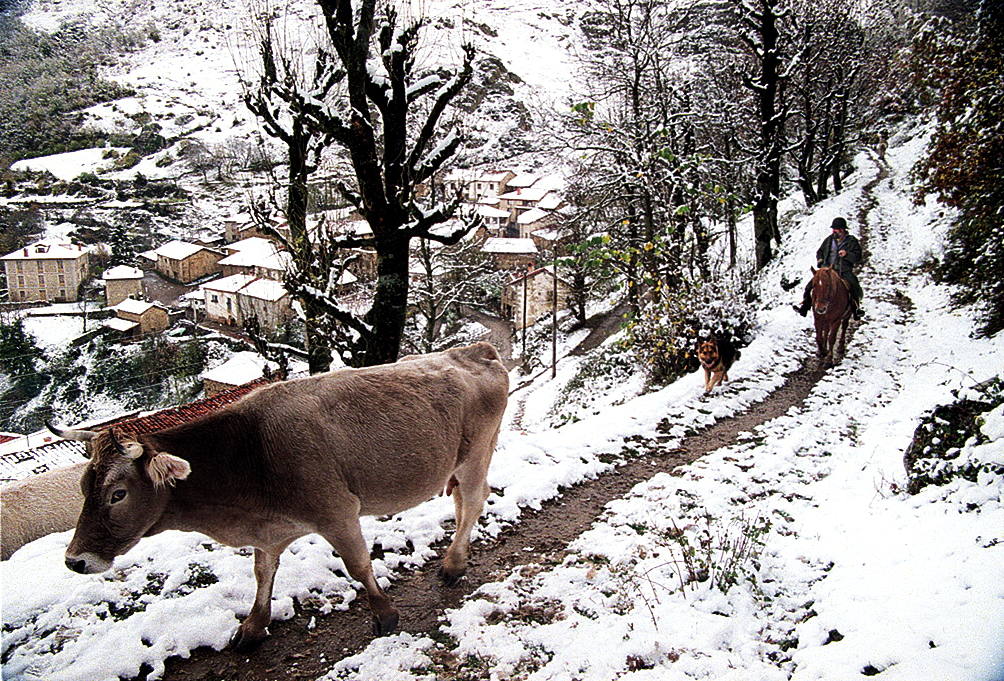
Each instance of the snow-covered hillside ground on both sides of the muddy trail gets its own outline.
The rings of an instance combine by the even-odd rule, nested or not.
[[[1001,480],[902,491],[903,452],[925,411],[1004,366],[1000,338],[970,337],[965,310],[951,309],[948,292],[916,267],[937,252],[945,228],[936,207],[916,207],[906,193],[922,144],[891,150],[892,177],[875,188],[880,203],[868,215],[868,319],[803,405],[679,476],[639,485],[561,564],[480,589],[448,613],[455,649],[402,633],[337,663],[330,678],[432,679],[445,656],[500,679],[1004,678]],[[758,335],[724,390],[704,396],[695,374],[657,393],[623,393],[622,404],[590,407],[551,429],[549,374],[527,389],[522,429],[500,439],[489,478],[496,493],[475,538],[613,467],[629,435],[654,435],[667,419],[681,438],[755,409],[776,389],[812,351],[808,322],[784,304],[797,290],[783,294],[776,284],[805,271],[833,216],[858,231],[856,207],[877,168],[864,155],[857,162],[850,188],[785,235],[783,258],[764,275],[765,290],[778,292],[765,295]],[[912,305],[895,304],[898,291]],[[560,380],[571,373],[559,367]],[[1002,418],[984,427],[992,439],[984,457],[1004,458]],[[440,497],[364,519],[366,538],[384,549],[374,561],[382,583],[435,557],[452,505]],[[762,541],[755,555],[714,540],[701,548],[702,538],[743,536]],[[199,534],[145,539],[111,572],[86,577],[63,566],[68,540],[68,532],[50,535],[0,564],[5,680],[103,681],[144,665],[156,678],[171,655],[225,646],[253,599],[250,552]],[[685,542],[713,575],[723,555],[747,555],[732,571],[737,584],[724,594],[711,580],[681,588]],[[298,540],[277,574],[274,617],[288,618],[294,599],[321,612],[345,608],[356,592],[341,574],[323,540]]]

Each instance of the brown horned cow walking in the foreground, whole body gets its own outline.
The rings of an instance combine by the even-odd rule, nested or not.
[[[271,384],[139,436],[51,426],[86,441],[90,456],[66,565],[104,572],[142,537],[166,529],[253,546],[257,593],[231,640],[246,651],[266,636],[283,549],[316,532],[365,588],[374,633],[393,632],[398,611],[373,578],[358,518],[452,493],[456,532],[440,576],[456,584],[490,491],[486,474],[508,388],[498,353],[478,343]]]

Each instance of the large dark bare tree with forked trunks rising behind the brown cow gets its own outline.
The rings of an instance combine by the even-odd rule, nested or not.
[[[423,19],[403,20],[378,0],[317,0],[325,29],[308,78],[288,79],[292,60],[276,60],[274,42],[261,41],[265,78],[258,91],[261,105],[248,105],[270,134],[286,143],[290,177],[287,201],[294,268],[287,286],[303,303],[307,317],[334,331],[337,351],[346,364],[364,366],[394,362],[400,351],[408,309],[410,244],[425,238],[457,243],[470,226],[440,235],[432,228],[450,219],[459,197],[433,204],[421,189],[454,156],[461,144],[456,126],[445,126],[451,101],[471,78],[474,50],[463,48],[455,71],[417,67]],[[266,35],[267,37],[267,35]],[[271,64],[271,65],[270,65]],[[275,126],[276,104],[288,125]],[[281,130],[280,130],[281,128]],[[448,129],[448,130],[447,130]],[[306,229],[306,180],[319,152],[328,146],[347,156],[351,181],[337,184],[345,201],[371,228],[371,235],[330,233],[312,237]],[[302,230],[302,231],[301,231]],[[322,239],[329,239],[321,243]],[[361,317],[340,306],[323,285],[332,277],[323,269],[341,267],[342,249],[372,248],[376,282],[372,304]],[[320,267],[317,262],[320,260]],[[320,340],[314,334],[315,340]],[[311,371],[320,368],[311,350]]]

